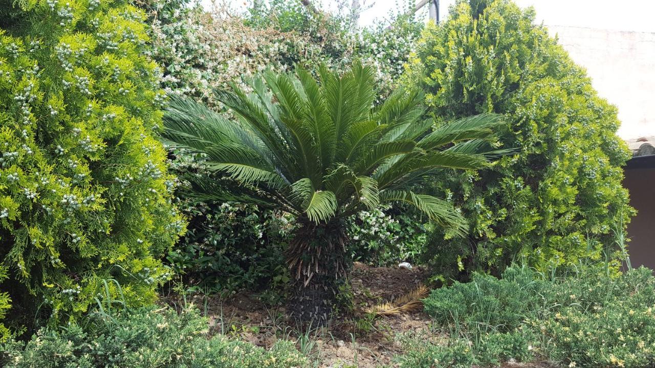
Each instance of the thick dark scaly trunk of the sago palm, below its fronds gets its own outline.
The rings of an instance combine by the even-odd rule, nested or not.
[[[339,285],[352,266],[347,241],[340,221],[320,225],[303,221],[286,254],[293,280],[291,316],[312,325],[326,324],[337,303]]]

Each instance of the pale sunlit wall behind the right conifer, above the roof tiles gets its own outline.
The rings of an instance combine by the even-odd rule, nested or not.
[[[548,26],[586,67],[599,94],[618,107],[619,136],[655,136],[655,33]]]

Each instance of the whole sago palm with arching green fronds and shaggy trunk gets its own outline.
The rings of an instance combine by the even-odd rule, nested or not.
[[[204,154],[204,166],[218,174],[187,177],[196,198],[295,215],[299,227],[286,251],[295,280],[290,312],[322,323],[351,263],[343,219],[403,202],[463,234],[466,221],[449,202],[415,190],[434,170],[485,166],[488,156],[477,152],[498,119],[477,115],[434,129],[421,120],[417,91],[400,90],[373,107],[369,67],[318,75],[265,73],[250,81],[250,94],[236,85],[216,92],[236,119],[173,97],[164,139]]]

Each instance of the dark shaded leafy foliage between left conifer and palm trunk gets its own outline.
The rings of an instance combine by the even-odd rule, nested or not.
[[[210,290],[284,286],[289,215],[233,203],[194,203],[182,210],[191,212],[194,222],[166,259],[185,275],[186,285]]]

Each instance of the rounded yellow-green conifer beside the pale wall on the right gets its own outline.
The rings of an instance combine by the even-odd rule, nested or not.
[[[616,108],[534,24],[532,9],[472,3],[458,1],[447,21],[424,30],[408,80],[426,91],[437,117],[505,114],[500,142],[517,152],[493,170],[436,178],[435,191],[457,202],[471,227],[462,239],[432,234],[428,257],[448,276],[500,272],[521,256],[540,269],[604,261],[612,227],[625,227],[632,213]]]

